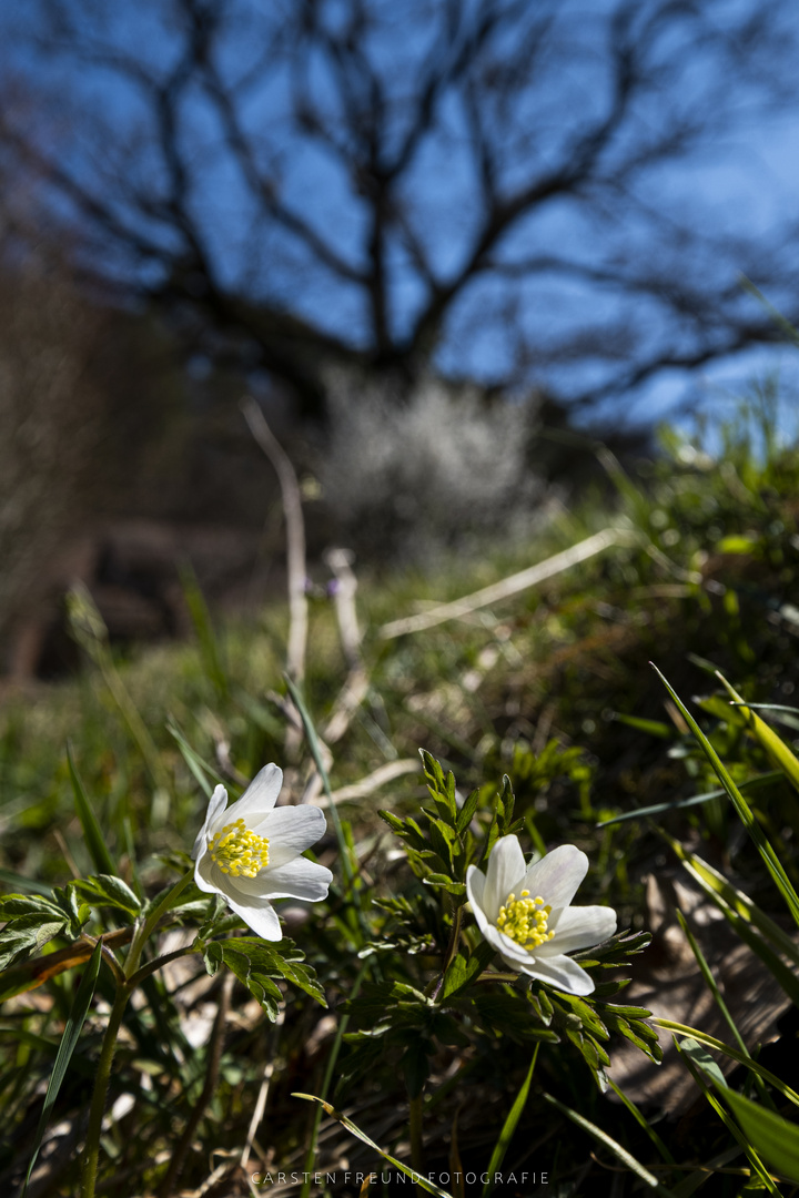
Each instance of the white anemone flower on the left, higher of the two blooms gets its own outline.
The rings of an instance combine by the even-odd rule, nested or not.
[[[265,940],[282,938],[273,898],[327,898],[333,875],[301,854],[325,833],[325,816],[314,806],[276,807],[283,770],[265,766],[241,799],[228,806],[217,786],[192,857],[200,890],[219,894]]]

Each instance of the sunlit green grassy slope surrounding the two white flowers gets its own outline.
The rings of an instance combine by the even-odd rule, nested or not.
[[[272,1066],[255,1143],[279,1149],[286,1167],[310,1160],[313,1168],[340,1154],[343,1139],[326,1132],[313,1156],[316,1142],[286,1093],[289,1083],[308,1089],[305,1077],[323,1075],[331,1094],[337,1084],[337,1102],[357,1103],[361,1112],[353,1123],[347,1112],[329,1108],[340,1136],[359,1138],[363,1149],[356,1143],[355,1150],[388,1161],[399,1161],[404,1150],[397,1145],[408,1138],[410,1099],[436,1158],[456,1121],[464,1151],[474,1143],[483,1154],[480,1168],[500,1144],[508,1162],[520,1158],[545,1129],[546,1143],[559,1145],[547,1164],[561,1193],[575,1185],[603,1193],[607,1154],[615,1167],[664,1193],[696,1186],[697,1174],[685,1178],[680,1168],[686,1160],[726,1166],[737,1142],[710,1107],[691,1114],[679,1136],[668,1118],[654,1133],[643,1126],[650,1113],[643,1100],[640,1109],[631,1101],[611,1105],[604,1090],[609,1060],[622,1049],[631,1051],[642,1072],[660,1059],[634,990],[624,1002],[630,975],[643,975],[653,988],[658,958],[641,955],[652,875],[685,871],[752,949],[758,968],[799,1003],[799,951],[783,926],[785,898],[774,881],[788,896],[799,889],[799,712],[787,708],[797,685],[799,453],[767,432],[768,424],[753,424],[750,413],[706,446],[665,434],[661,456],[637,471],[605,459],[617,501],[598,494],[515,551],[442,559],[426,577],[405,570],[371,580],[364,569],[358,668],[365,683],[353,709],[343,689],[334,610],[321,598],[311,604],[307,672],[302,694],[296,691],[307,739],[292,760],[299,781],[291,797],[298,800],[305,785],[314,788],[315,766],[332,789],[329,818],[339,836],[320,847],[335,872],[329,902],[309,909],[302,933],[292,931],[302,954],[289,940],[266,944],[240,934],[241,921],[224,903],[190,884],[158,914],[174,871],[190,869],[187,852],[204,794],[222,782],[235,797],[265,762],[289,760],[285,611],[274,605],[256,622],[217,625],[188,580],[196,642],[126,660],[109,646],[93,609],[73,604],[87,670],[37,695],[35,704],[11,696],[0,709],[2,817],[14,831],[0,857],[0,882],[12,891],[0,898],[0,1095],[12,1130],[0,1180],[10,1175],[13,1151],[17,1173],[28,1166],[31,1113],[102,936],[102,1004],[89,1006],[50,1121],[74,1121],[85,1111],[119,984],[115,969],[125,970],[135,930],[151,918],[134,975],[139,1002],[122,1019],[109,1089],[109,1108],[122,1094],[134,1108],[103,1132],[104,1185],[119,1174],[132,1191],[156,1191],[163,1167],[153,1162],[172,1152],[195,1109],[201,1115],[194,1143],[248,1142]],[[380,635],[381,625],[418,600],[458,598],[609,525],[627,530],[623,541],[545,586],[498,599],[456,624],[392,640]],[[647,659],[683,696],[679,703],[670,701]],[[734,683],[734,695],[718,670]],[[685,714],[697,712],[686,698],[696,690],[698,740]],[[341,710],[349,722],[339,721],[339,733],[326,742]],[[779,736],[776,721],[783,721]],[[295,746],[301,736],[297,730]],[[406,764],[420,743],[429,750],[422,754],[424,798],[419,775]],[[362,786],[395,766],[405,772],[398,769],[381,789]],[[335,792],[345,787],[361,797],[340,801]],[[759,845],[757,834],[742,836],[742,815],[761,829]],[[559,843],[585,849],[591,870],[579,901],[610,903],[619,926],[631,928],[575,954],[595,981],[587,998],[504,972],[476,926],[467,870],[485,869],[497,837],[509,834],[526,853]],[[199,928],[196,940],[184,928]],[[186,974],[171,975],[171,961],[158,964],[172,954],[184,957]],[[202,976],[201,958],[211,978]],[[662,962],[659,969],[666,969]],[[230,972],[237,979],[236,1018],[223,1027],[216,1048],[192,1047],[195,1005],[216,1002]],[[721,994],[720,986],[708,986]],[[247,1003],[249,996],[259,1006]],[[274,1024],[279,1012],[284,1017]],[[679,1027],[685,1039],[691,1029]],[[714,1054],[730,1047],[708,1036],[696,1043]],[[204,1103],[214,1052],[219,1075]],[[762,1083],[758,1109],[793,1101],[785,1083],[755,1067],[753,1045],[733,1048],[731,1059]],[[691,1064],[697,1084],[712,1089],[707,1071],[696,1059]],[[728,1084],[734,1095],[738,1078]],[[550,1100],[541,1087],[552,1091]],[[327,1082],[321,1094],[326,1101]],[[329,1107],[316,1105],[320,1114]],[[732,1105],[730,1111],[730,1124],[749,1135],[744,1117]],[[385,1136],[362,1131],[379,1119],[386,1120]],[[589,1156],[592,1142],[601,1163]],[[756,1148],[768,1163],[765,1148]],[[544,1160],[549,1148],[535,1151]],[[679,1163],[670,1172],[673,1158]],[[364,1157],[367,1167],[374,1160]],[[206,1157],[189,1152],[181,1182],[198,1188],[206,1179]],[[61,1180],[65,1192],[75,1188],[74,1164]],[[719,1174],[716,1182],[726,1198],[742,1179]],[[220,1184],[235,1186],[230,1176]],[[618,1181],[621,1191],[624,1184]]]

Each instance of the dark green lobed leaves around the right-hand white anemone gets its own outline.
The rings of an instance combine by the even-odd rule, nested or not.
[[[567,768],[577,768],[580,755],[569,754],[565,760]],[[350,1052],[339,1093],[347,1093],[368,1073],[374,1077],[382,1060],[404,1072],[413,1096],[430,1075],[436,1051],[466,1047],[485,1035],[520,1045],[558,1045],[567,1054],[576,1049],[600,1089],[610,1064],[604,1042],[611,1034],[659,1060],[656,1033],[646,1022],[648,1011],[606,1002],[622,988],[623,979],[600,984],[601,1000],[597,1002],[556,993],[523,975],[491,973],[494,949],[464,919],[465,879],[470,865],[485,864],[498,836],[523,831],[523,821],[514,819],[513,787],[506,776],[491,798],[476,789],[459,803],[452,770],[444,773],[425,751],[422,761],[432,804],[420,809],[418,819],[387,811],[380,815],[404,843],[416,877],[437,896],[438,913],[418,887],[399,898],[379,900],[389,915],[386,942],[407,952],[404,980],[367,984],[357,999],[344,1004],[357,1030],[345,1036]],[[528,762],[527,778],[549,779],[563,769],[564,755],[550,750],[538,770]],[[618,934],[579,960],[583,967],[615,969],[642,951],[648,939],[646,933]],[[380,943],[373,942],[368,951],[379,949]],[[438,972],[426,985],[425,951],[438,958]]]

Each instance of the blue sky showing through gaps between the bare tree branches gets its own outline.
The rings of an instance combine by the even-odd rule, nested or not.
[[[474,4],[474,0],[470,2]],[[541,84],[531,92],[526,117],[531,131],[528,152],[540,157],[541,169],[546,165],[547,155],[556,157],[558,146],[574,137],[580,122],[600,114],[607,103],[601,47],[599,42],[594,44],[592,38],[603,32],[601,18],[610,2],[601,0],[595,6],[586,7],[565,0],[556,6],[562,23],[561,36],[573,40],[569,41],[571,49],[565,60],[553,59],[540,66]],[[178,47],[175,28],[168,20],[171,7],[168,2],[153,5],[149,0],[135,6],[110,8],[90,0],[69,0],[65,5],[66,11],[77,14],[81,36],[89,35],[95,42],[110,44],[119,53],[131,53],[137,67],[155,74],[163,73],[174,61]],[[235,37],[223,43],[218,60],[229,78],[243,77],[258,60],[262,46],[258,36],[250,36],[249,31],[256,30],[259,12],[268,11],[268,19],[277,19],[279,25],[282,12],[289,11],[277,0],[270,10],[260,10],[248,2],[238,7],[246,24]],[[344,11],[344,6],[339,7]],[[646,7],[642,2],[641,11]],[[737,5],[730,0],[715,7],[732,19],[736,8],[743,10],[746,5],[743,0],[738,0]],[[775,12],[780,7],[775,5]],[[791,6],[782,7],[789,18]],[[385,6],[385,10],[393,12],[393,17],[383,28],[383,42],[375,50],[376,61],[391,62],[401,84],[406,78],[402,63],[407,66],[407,78],[412,78],[413,69],[423,59],[428,30],[422,24],[404,20],[404,12],[398,13],[391,6]],[[329,11],[335,13],[335,6],[331,5]],[[139,137],[145,128],[141,123],[145,111],[137,86],[121,81],[119,74],[101,69],[96,63],[84,62],[78,67],[69,56],[60,60],[52,55],[43,56],[31,40],[31,35],[42,28],[40,13],[36,0],[14,11],[6,8],[0,16],[0,31],[6,31],[5,56],[11,73],[16,73],[29,89],[34,108],[40,107],[49,151],[60,155],[73,175],[97,193],[105,187],[104,177],[113,179],[115,174],[125,175],[126,181],[140,190],[155,188],[157,192],[164,167],[152,147],[147,146],[146,138]],[[793,24],[799,31],[799,12],[794,11]],[[512,52],[513,47],[508,49]],[[658,53],[662,56],[673,49],[664,46]],[[703,74],[702,56],[691,56],[690,46],[678,49],[684,55],[684,78],[670,103],[682,107],[690,116],[692,110],[708,102],[712,89]],[[335,116],[339,101],[325,65],[309,59],[308,78],[320,110],[327,108]],[[799,183],[799,114],[795,108],[787,107],[779,119],[771,117],[765,123],[756,113],[747,114],[751,89],[737,79],[728,80],[728,89],[737,110],[734,127],[722,131],[683,161],[642,170],[636,183],[638,214],[629,225],[619,225],[612,208],[607,207],[610,192],[603,201],[605,211],[597,210],[593,214],[574,199],[563,198],[541,207],[528,220],[520,222],[500,248],[500,256],[513,259],[557,253],[561,258],[604,266],[622,253],[632,265],[636,260],[646,264],[648,256],[656,252],[668,265],[668,234],[661,230],[658,235],[660,242],[653,242],[653,230],[642,214],[647,202],[665,205],[673,214],[677,222],[674,246],[680,222],[685,228],[707,230],[708,237],[718,238],[719,243],[751,234],[782,238],[785,228],[792,222]],[[262,162],[279,180],[280,194],[286,204],[301,212],[320,236],[333,242],[344,259],[357,266],[364,254],[364,210],[359,207],[351,180],[334,156],[290,132],[286,120],[290,102],[287,69],[285,63],[276,61],[250,87],[242,109],[243,125],[253,141],[259,143]],[[640,105],[627,134],[630,140],[625,145],[622,138],[615,151],[618,156],[624,155],[634,138],[646,135],[649,128],[656,127],[662,115],[658,104],[658,93],[653,92]],[[195,170],[190,205],[225,285],[282,303],[353,344],[363,341],[362,295],[355,288],[334,284],[329,274],[320,271],[284,231],[264,223],[242,183],[240,170],[224,152],[218,114],[201,89],[187,90],[182,119],[189,159]],[[494,127],[501,137],[503,131],[497,121]],[[399,137],[399,119],[397,129]],[[54,149],[56,141],[59,145]],[[138,145],[134,156],[131,155],[133,144]],[[442,105],[435,135],[423,143],[406,183],[419,198],[417,235],[443,279],[455,272],[470,253],[479,217],[464,144],[464,110],[452,101]],[[504,186],[508,188],[529,169],[526,144],[519,141],[521,150],[515,156],[509,151],[503,167]],[[126,214],[123,202],[120,202],[119,211]],[[141,217],[132,219],[141,220]],[[149,231],[156,228],[153,222]],[[163,226],[158,226],[157,235],[169,244],[169,235],[163,232]],[[783,253],[793,253],[787,241]],[[110,255],[107,261],[110,261]],[[401,335],[424,301],[424,288],[402,248],[401,238],[391,243],[388,262],[393,278],[393,327]],[[730,284],[734,279],[737,265],[732,254],[719,276],[720,283]],[[744,270],[756,268],[757,261],[742,261],[739,265]],[[126,271],[129,267],[121,262],[120,268]],[[708,252],[706,259],[694,262],[688,259],[680,268],[690,286],[715,268],[713,254]],[[787,268],[788,261],[783,261],[782,270]],[[764,280],[755,278],[755,282],[763,285]],[[791,302],[792,296],[789,283],[782,291],[769,292],[769,298],[780,307]],[[450,316],[450,335],[438,353],[442,369],[492,381],[506,369],[523,333],[533,346],[540,349],[540,358],[531,367],[529,380],[540,380],[569,394],[601,379],[607,369],[603,357],[603,326],[610,327],[619,317],[624,327],[629,320],[630,352],[646,347],[648,340],[655,345],[664,335],[662,317],[652,298],[642,296],[630,304],[629,297],[611,286],[587,286],[585,282],[565,278],[562,273],[543,273],[534,283],[519,285],[515,302],[513,307],[508,305],[504,319],[502,313],[507,300],[507,285],[491,278],[473,284],[464,292]],[[739,307],[753,316],[759,315],[752,297],[742,294]],[[489,313],[491,319],[485,315]],[[558,344],[570,345],[575,331],[592,325],[594,349],[588,346],[581,353],[565,352],[558,361]],[[786,397],[791,400],[797,386],[794,359],[797,351],[793,349],[757,349],[710,363],[690,377],[683,370],[666,370],[628,395],[609,397],[600,411],[624,422],[666,415],[676,404],[684,403],[686,395],[695,395],[697,403],[721,404],[724,400],[720,397],[730,388],[743,388],[752,375],[777,369]]]

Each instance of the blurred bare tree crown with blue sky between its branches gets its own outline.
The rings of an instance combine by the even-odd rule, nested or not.
[[[18,224],[67,226],[86,279],[305,412],[332,365],[629,393],[775,338],[739,272],[794,315],[795,220],[728,190],[759,169],[731,139],[797,101],[789,0],[29,0],[4,25]]]

